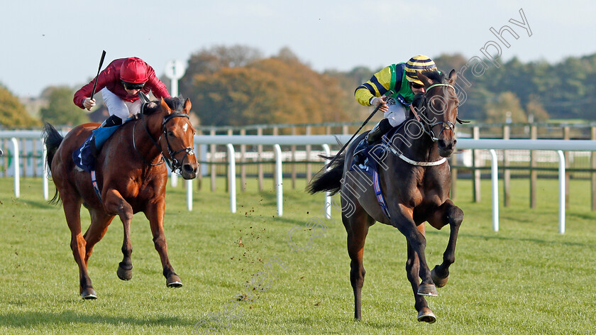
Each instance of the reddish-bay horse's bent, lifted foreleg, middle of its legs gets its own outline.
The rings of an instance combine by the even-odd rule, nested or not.
[[[122,261],[118,264],[116,275],[121,280],[133,278],[133,262],[131,255],[133,246],[131,244],[131,221],[133,220],[133,207],[128,204],[120,192],[114,189],[107,190],[104,197],[104,207],[108,214],[118,214],[122,221],[124,238],[122,242]]]

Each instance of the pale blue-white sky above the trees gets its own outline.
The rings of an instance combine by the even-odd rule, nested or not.
[[[3,2],[0,83],[19,97],[86,84],[102,50],[104,67],[136,56],[158,76],[168,61],[187,62],[215,45],[246,45],[265,57],[287,47],[319,72],[377,70],[419,54],[484,57],[483,48],[500,53],[498,62],[555,63],[596,53],[596,6],[587,0]],[[509,48],[490,31],[503,26],[518,36],[502,31]]]

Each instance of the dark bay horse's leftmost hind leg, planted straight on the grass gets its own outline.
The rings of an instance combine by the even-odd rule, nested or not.
[[[360,309],[362,287],[364,285],[364,265],[362,263],[364,253],[364,241],[368,234],[368,227],[371,222],[370,216],[360,208],[359,214],[350,217],[342,215],[343,225],[348,233],[348,255],[350,256],[350,282],[354,291],[354,319],[362,319]]]

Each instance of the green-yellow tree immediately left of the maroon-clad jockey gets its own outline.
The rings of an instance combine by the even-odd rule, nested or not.
[[[40,110],[41,119],[55,125],[77,126],[89,122],[89,116],[72,102],[74,92],[70,87],[48,87],[43,95],[48,106]]]

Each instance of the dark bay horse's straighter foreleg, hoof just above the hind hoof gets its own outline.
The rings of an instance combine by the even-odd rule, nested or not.
[[[437,292],[434,282],[431,279],[431,270],[429,270],[429,265],[426,264],[426,256],[424,256],[426,238],[416,227],[414,219],[412,219],[412,209],[404,207],[402,204],[399,204],[398,207],[399,212],[392,213],[391,223],[406,236],[408,243],[412,246],[412,250],[418,255],[419,276],[422,282],[419,285],[417,294],[436,296]]]

